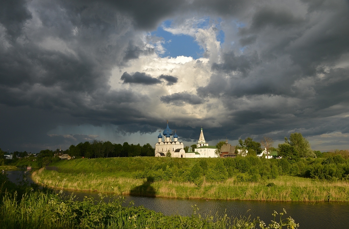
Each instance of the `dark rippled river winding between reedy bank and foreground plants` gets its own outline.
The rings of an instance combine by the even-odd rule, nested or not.
[[[7,171],[12,182],[21,180],[21,171]],[[17,180],[17,182],[18,182]],[[98,198],[97,192],[67,191],[65,194],[74,192],[78,200],[84,196]],[[216,214],[223,216],[226,213],[229,217],[240,215],[251,215],[252,219],[260,217],[266,224],[273,220],[274,210],[278,213],[284,208],[287,216],[291,216],[299,228],[349,228],[349,203],[347,202],[281,202],[281,201],[246,201],[246,200],[202,200],[202,199],[168,199],[125,196],[125,205],[133,201],[135,206],[141,206],[162,212],[165,215],[179,214],[191,215],[192,205],[199,208],[197,211],[201,216]]]

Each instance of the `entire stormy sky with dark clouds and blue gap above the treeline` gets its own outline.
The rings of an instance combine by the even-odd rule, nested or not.
[[[2,0],[0,147],[210,145],[300,132],[349,149],[347,0]]]

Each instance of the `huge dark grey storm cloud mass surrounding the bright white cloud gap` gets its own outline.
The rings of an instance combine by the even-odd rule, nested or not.
[[[193,15],[222,18],[231,28],[240,23],[234,45],[226,44],[198,95],[160,98],[177,106],[218,98],[217,112],[226,118],[199,120],[221,125],[205,129],[208,140],[348,132],[348,1],[6,0],[0,9],[0,147],[52,148],[86,137],[47,135],[64,124],[114,124],[124,134],[163,128],[149,114],[152,97],[111,89],[111,71],[154,54],[144,34],[163,20]],[[139,72],[121,79],[139,86],[178,83],[172,75]],[[198,128],[180,125],[186,118],[174,121],[182,139],[198,139]]]

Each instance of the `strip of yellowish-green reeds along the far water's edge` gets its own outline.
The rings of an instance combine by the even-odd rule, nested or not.
[[[199,198],[262,201],[349,201],[349,183],[324,182],[309,178],[279,176],[258,182],[236,182],[236,177],[224,182],[154,181],[146,178],[121,177],[113,172],[64,173],[40,169],[32,179],[48,187],[68,190],[96,191],[123,195],[165,198]],[[269,184],[269,185],[268,185]],[[273,185],[274,184],[274,185]]]

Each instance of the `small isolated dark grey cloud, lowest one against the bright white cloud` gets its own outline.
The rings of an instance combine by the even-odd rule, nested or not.
[[[197,95],[192,95],[187,92],[173,93],[171,95],[161,96],[160,100],[164,103],[172,103],[177,106],[183,106],[184,103],[192,105],[202,104],[205,100]]]

